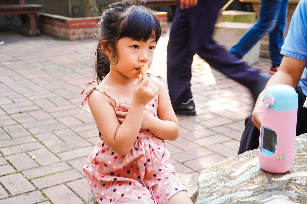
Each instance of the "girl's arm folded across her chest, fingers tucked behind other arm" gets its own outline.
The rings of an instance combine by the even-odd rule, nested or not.
[[[158,117],[151,115],[149,110],[144,110],[143,122],[141,129],[148,129],[151,133],[161,139],[175,140],[179,135],[179,123],[177,117],[173,111],[169,94],[164,84],[155,77],[150,77],[151,81],[158,87]],[[121,105],[125,109],[129,109],[130,106],[126,104]],[[128,111],[128,112],[129,112]],[[120,122],[126,121],[126,112],[119,111],[119,116],[125,118],[118,118]]]

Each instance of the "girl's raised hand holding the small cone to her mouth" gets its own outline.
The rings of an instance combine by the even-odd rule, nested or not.
[[[151,83],[150,77],[146,76],[142,80],[142,75],[138,75],[138,81],[134,86],[132,102],[136,105],[146,105],[158,93],[158,88]]]

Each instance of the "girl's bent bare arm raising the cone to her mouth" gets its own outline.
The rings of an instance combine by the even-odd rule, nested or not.
[[[157,94],[149,77],[142,81],[139,76],[134,87],[134,96],[122,124],[115,114],[115,102],[99,91],[93,91],[88,96],[88,105],[96,125],[110,147],[118,154],[126,155],[133,146],[140,131],[145,105]]]

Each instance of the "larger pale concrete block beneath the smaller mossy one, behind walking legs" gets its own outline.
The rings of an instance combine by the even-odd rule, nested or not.
[[[230,50],[232,46],[237,44],[243,35],[253,27],[251,23],[221,22],[215,24],[213,40]],[[259,60],[260,43],[256,43],[251,50],[244,55],[243,61],[248,65],[255,64]]]

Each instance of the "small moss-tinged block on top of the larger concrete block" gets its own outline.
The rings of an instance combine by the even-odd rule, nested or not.
[[[254,12],[246,11],[223,11],[223,21],[227,22],[238,22],[238,23],[255,23],[256,14]]]

